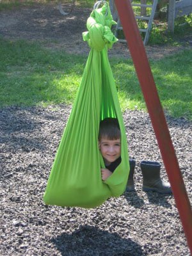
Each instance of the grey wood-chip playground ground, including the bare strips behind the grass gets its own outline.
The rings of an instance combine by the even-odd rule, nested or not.
[[[89,49],[82,42],[81,33],[86,31],[89,13],[90,9],[76,9],[63,18],[56,6],[4,11],[0,31],[11,40],[42,40],[45,47],[86,54]],[[189,44],[147,46],[147,54],[149,58],[163,58],[184,47]],[[110,54],[129,56],[122,44],[116,44]],[[141,191],[140,161],[162,163],[150,119],[142,111],[124,113],[130,156],[136,159],[136,191],[125,191],[120,198],[111,198],[97,209],[44,205],[42,196],[70,110],[71,106],[65,105],[0,109],[0,254],[188,256],[173,196]],[[192,124],[185,118],[166,118],[192,200]],[[167,180],[163,163],[161,176]]]

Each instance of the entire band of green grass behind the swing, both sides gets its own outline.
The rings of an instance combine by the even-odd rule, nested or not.
[[[0,106],[72,104],[87,56],[0,38]],[[145,109],[131,60],[110,60],[122,109]],[[192,120],[192,51],[151,61],[163,108]]]

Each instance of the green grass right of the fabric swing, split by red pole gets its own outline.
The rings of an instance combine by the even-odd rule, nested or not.
[[[115,61],[111,65],[122,109],[146,109],[132,61]],[[164,110],[192,120],[192,51],[150,61],[150,67]]]

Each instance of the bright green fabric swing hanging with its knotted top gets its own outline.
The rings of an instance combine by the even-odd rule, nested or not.
[[[87,20],[88,32],[83,33],[83,39],[88,40],[91,50],[45,189],[47,205],[92,208],[125,191],[129,175],[127,139],[108,60],[108,48],[117,41],[111,32],[114,23],[108,4],[93,10]],[[118,118],[122,162],[103,182],[100,168],[105,166],[98,134],[100,120],[106,117]]]

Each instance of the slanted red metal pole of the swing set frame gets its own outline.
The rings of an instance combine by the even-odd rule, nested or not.
[[[148,113],[154,127],[168,179],[172,186],[173,196],[186,234],[189,250],[192,255],[191,205],[182,179],[182,174],[180,173],[177,156],[173,148],[172,139],[170,138],[170,132],[166,124],[156,84],[148,63],[145,47],[136,24],[131,2],[129,0],[115,0],[115,4],[124,29],[125,38],[132,56],[134,67],[136,68],[136,73],[140,81]]]

